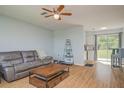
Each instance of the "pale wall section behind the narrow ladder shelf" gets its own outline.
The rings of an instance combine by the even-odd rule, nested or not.
[[[85,32],[83,27],[54,31],[54,57],[56,59],[63,59],[66,39],[71,39],[74,64],[84,65]]]

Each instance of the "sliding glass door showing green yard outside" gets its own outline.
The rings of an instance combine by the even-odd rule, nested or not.
[[[119,48],[119,34],[102,34],[97,35],[97,60],[101,62],[110,62],[112,48]]]

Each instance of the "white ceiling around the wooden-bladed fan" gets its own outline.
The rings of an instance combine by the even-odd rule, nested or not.
[[[99,30],[101,27],[124,27],[124,6],[121,5],[66,5],[65,10],[72,12],[72,16],[62,17],[58,21],[53,17],[44,18],[41,8],[52,9],[57,6],[26,5],[26,6],[0,6],[0,14],[23,20],[49,30],[61,30],[76,26],[84,26],[85,30]]]

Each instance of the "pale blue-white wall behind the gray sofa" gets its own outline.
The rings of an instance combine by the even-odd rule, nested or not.
[[[53,32],[0,16],[0,52],[32,49],[40,56],[53,55]]]

